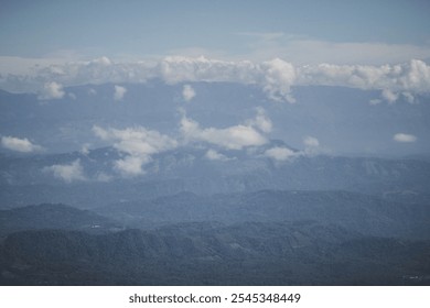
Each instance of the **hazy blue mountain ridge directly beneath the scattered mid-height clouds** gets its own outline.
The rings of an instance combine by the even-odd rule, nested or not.
[[[429,161],[315,155],[279,163],[262,155],[248,156],[246,150],[236,152],[244,156],[211,161],[205,150],[175,148],[154,155],[144,166],[146,173],[131,178],[116,173],[115,164],[122,156],[112,147],[0,155],[0,201],[3,208],[42,202],[94,208],[181,191],[209,196],[277,189],[348,190],[407,204],[430,202]],[[77,166],[82,175],[67,183],[52,172],[55,165]]]

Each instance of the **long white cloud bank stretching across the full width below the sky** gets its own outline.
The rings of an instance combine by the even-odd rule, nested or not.
[[[273,58],[266,62],[219,61],[205,57],[169,56],[159,61],[114,63],[107,57],[32,67],[28,73],[1,73],[0,87],[14,91],[36,90],[41,99],[60,99],[63,86],[104,82],[146,82],[159,78],[166,84],[227,81],[256,85],[273,101],[294,102],[293,86],[344,86],[380,90],[380,99],[395,102],[399,97],[413,101],[430,92],[430,66],[423,61],[390,65],[293,65]],[[126,90],[116,87],[116,98]],[[184,100],[195,92],[184,87]]]

